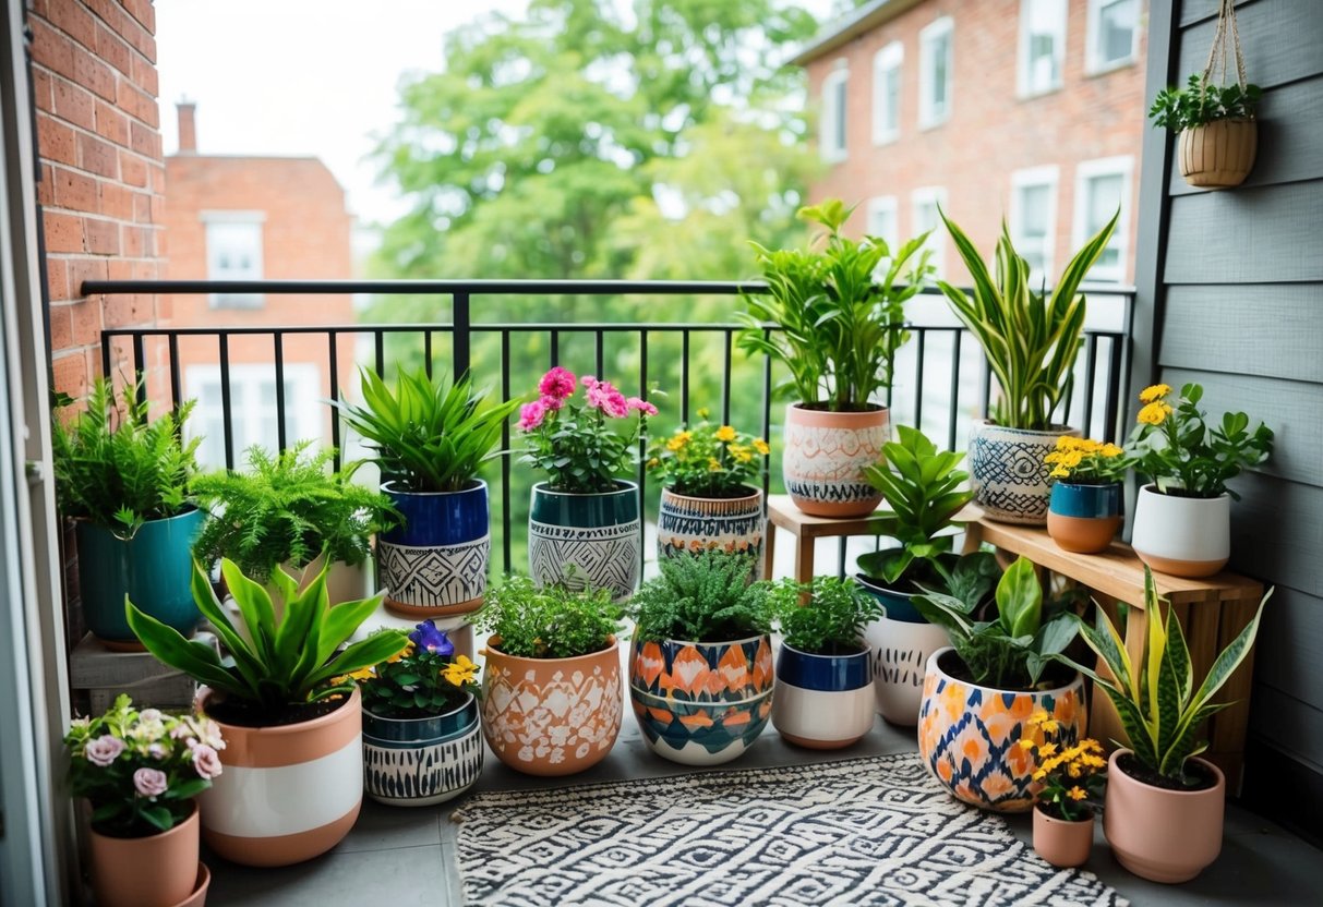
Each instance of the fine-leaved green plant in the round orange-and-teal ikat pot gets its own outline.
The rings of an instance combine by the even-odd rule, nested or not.
[[[729,643],[771,629],[767,583],[749,582],[754,559],[709,549],[664,558],[630,599],[635,639]]]

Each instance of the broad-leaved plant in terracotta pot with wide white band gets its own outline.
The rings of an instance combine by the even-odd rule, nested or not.
[[[382,631],[341,649],[381,595],[332,608],[325,569],[303,591],[283,570],[271,574],[284,599],[280,616],[266,587],[233,561],[221,561],[221,576],[243,635],[193,565],[193,600],[229,652],[224,661],[131,602],[124,611],[148,652],[205,685],[198,707],[220,725],[226,764],[242,769],[216,779],[201,797],[202,840],[237,863],[287,866],[325,853],[353,828],[363,804],[363,713],[347,674],[385,661],[407,637]]]

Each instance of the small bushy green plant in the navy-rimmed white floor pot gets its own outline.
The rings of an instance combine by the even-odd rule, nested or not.
[[[800,603],[803,594],[808,600]],[[849,579],[814,576],[811,583],[773,583],[767,607],[786,645],[812,654],[855,654],[864,625],[882,616],[882,606]]]

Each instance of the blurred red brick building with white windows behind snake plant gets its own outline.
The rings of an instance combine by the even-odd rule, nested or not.
[[[860,202],[888,243],[939,226],[941,205],[991,251],[1004,217],[1049,282],[1119,205],[1090,280],[1131,283],[1146,19],[1146,0],[864,4],[794,59],[828,164],[812,197]],[[929,242],[938,276],[966,280],[945,229]]]

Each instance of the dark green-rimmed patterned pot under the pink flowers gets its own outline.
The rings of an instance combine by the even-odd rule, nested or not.
[[[639,584],[643,524],[639,487],[618,480],[599,494],[533,485],[528,512],[528,572],[538,586],[609,588],[620,602]],[[570,570],[573,567],[573,570]]]

